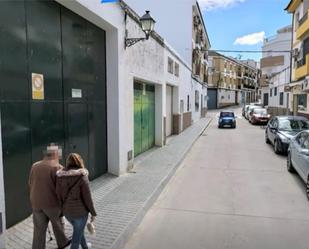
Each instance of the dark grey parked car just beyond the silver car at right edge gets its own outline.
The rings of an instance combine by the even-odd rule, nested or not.
[[[265,142],[274,146],[275,153],[286,153],[290,139],[298,132],[309,129],[309,121],[298,116],[277,116],[272,118],[265,130]]]

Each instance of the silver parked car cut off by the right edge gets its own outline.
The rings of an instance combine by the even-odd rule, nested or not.
[[[291,139],[288,149],[287,169],[297,171],[306,183],[307,198],[309,200],[309,130],[300,132]]]

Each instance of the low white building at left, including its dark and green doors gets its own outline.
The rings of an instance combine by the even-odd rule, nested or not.
[[[190,56],[198,10],[183,9]],[[124,1],[0,1],[0,20],[3,248],[3,230],[31,212],[29,170],[47,144],[60,145],[64,157],[81,154],[91,180],[121,176],[137,156],[203,116],[207,88],[205,70],[193,73],[192,61],[156,31],[144,39],[141,16]],[[207,35],[197,38],[207,50]]]

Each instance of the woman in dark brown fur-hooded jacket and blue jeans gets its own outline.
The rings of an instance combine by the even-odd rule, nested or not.
[[[64,169],[57,171],[57,196],[62,204],[62,212],[73,226],[71,249],[90,248],[84,236],[88,214],[91,221],[96,216],[89,188],[88,170],[83,159],[76,153],[71,153]]]

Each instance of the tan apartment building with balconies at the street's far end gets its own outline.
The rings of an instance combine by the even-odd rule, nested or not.
[[[209,52],[208,108],[249,103],[256,100],[257,64]]]

